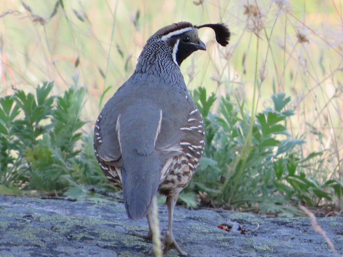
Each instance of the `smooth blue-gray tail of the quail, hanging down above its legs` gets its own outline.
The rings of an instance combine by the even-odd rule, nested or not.
[[[132,150],[129,153],[122,152],[121,158],[124,163],[121,177],[126,212],[130,219],[142,219],[157,193],[162,163],[155,152],[142,155]]]

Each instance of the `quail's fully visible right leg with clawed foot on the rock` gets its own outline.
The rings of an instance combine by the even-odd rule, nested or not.
[[[173,211],[177,200],[177,195],[167,196],[167,206],[168,206],[168,230],[163,238],[162,244],[164,245],[163,254],[166,254],[169,250],[175,249],[178,251],[179,255],[187,255],[186,252],[182,251],[180,246],[176,243],[175,237],[173,235]]]

